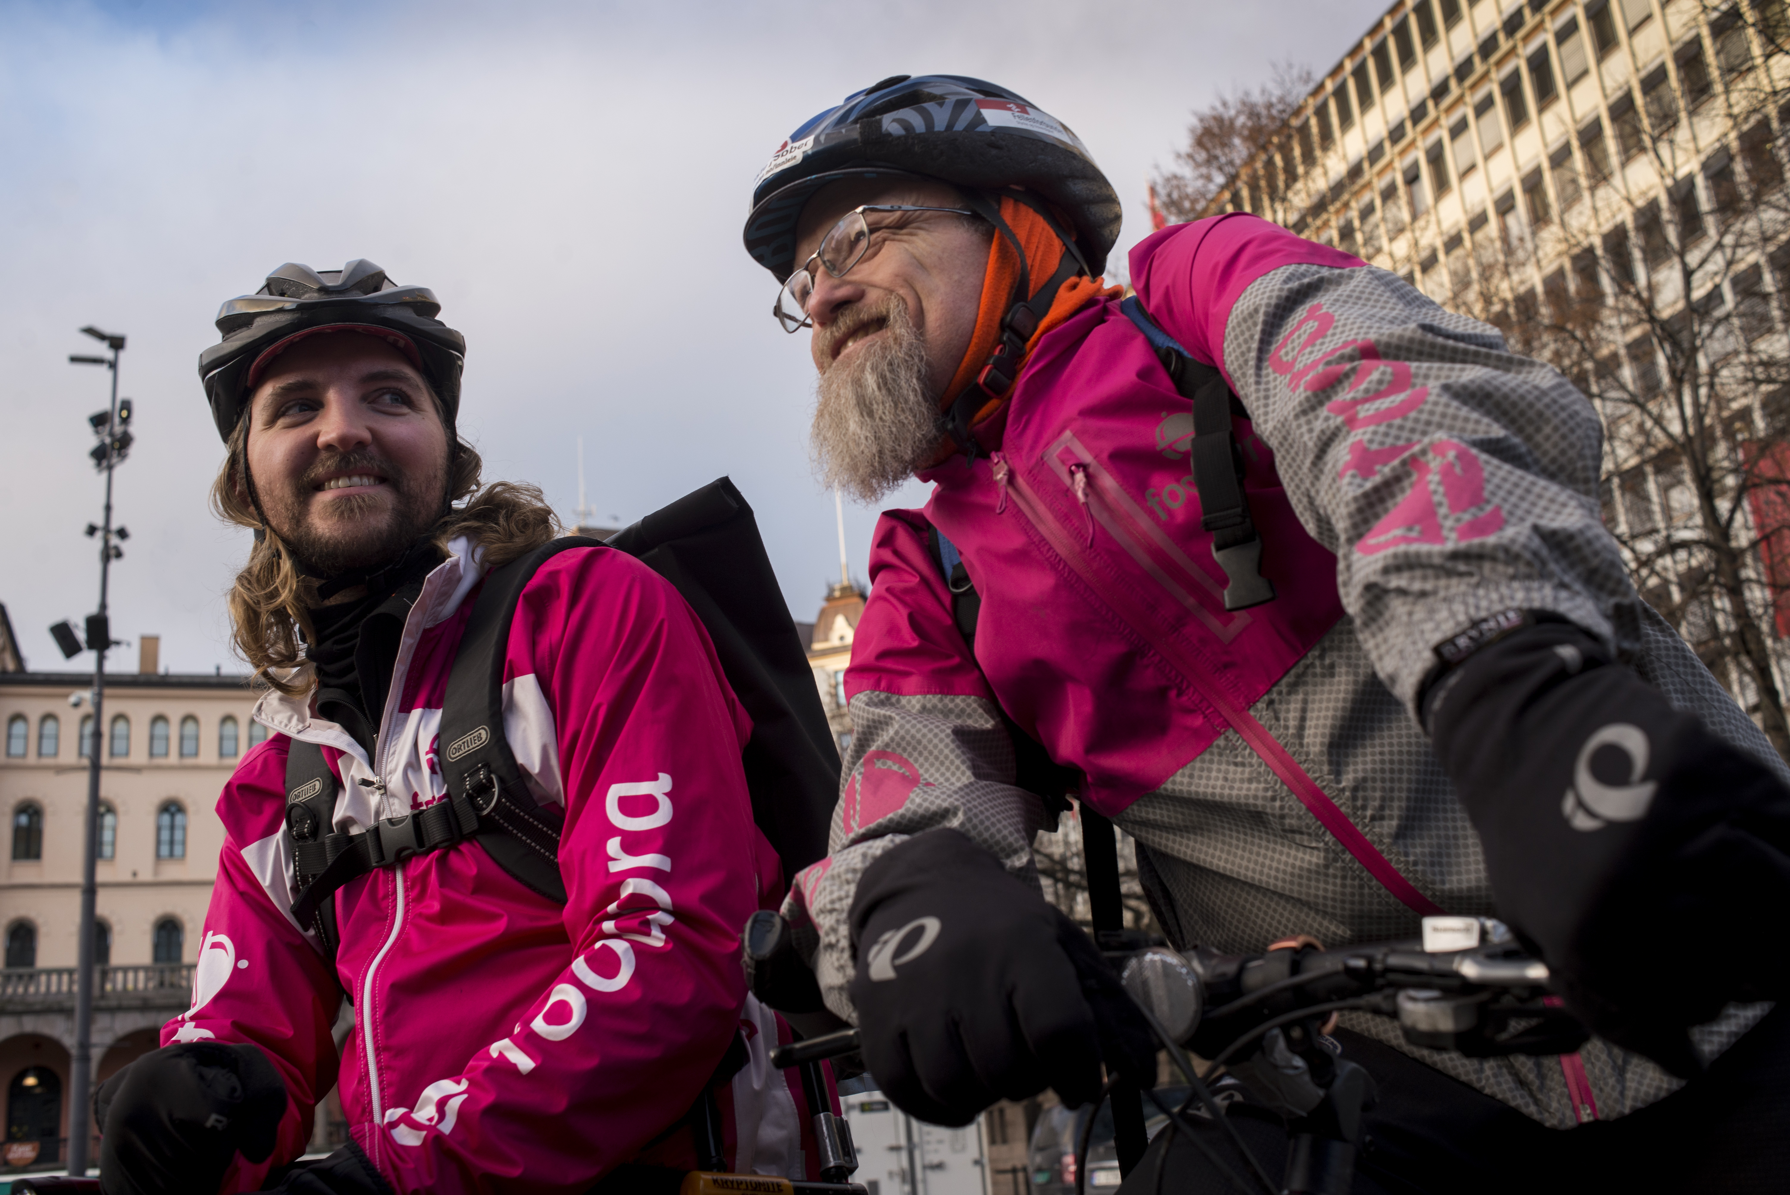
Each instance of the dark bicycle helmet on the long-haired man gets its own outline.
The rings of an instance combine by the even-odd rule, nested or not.
[[[435,386],[451,444],[460,410],[465,336],[435,318],[440,309],[428,286],[397,286],[365,258],[340,270],[313,270],[288,261],[267,275],[261,290],[218,308],[217,326],[224,340],[199,354],[199,377],[204,379],[218,435],[229,442],[249,392],[281,349],[295,338],[335,327],[383,336],[408,356]]]

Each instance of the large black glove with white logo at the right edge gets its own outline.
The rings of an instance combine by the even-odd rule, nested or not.
[[[1597,1034],[1690,1075],[1686,1027],[1790,996],[1767,928],[1790,907],[1790,789],[1760,760],[1568,623],[1480,648],[1427,705],[1500,916]]]

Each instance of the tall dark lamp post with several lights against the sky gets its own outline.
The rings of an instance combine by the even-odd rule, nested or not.
[[[98,857],[100,823],[100,751],[106,746],[106,649],[113,646],[111,619],[106,610],[106,590],[111,580],[111,562],[124,555],[113,540],[129,538],[124,528],[111,524],[111,483],[113,469],[131,449],[131,399],[118,406],[118,352],[124,351],[124,336],[102,333],[88,326],[81,329],[95,340],[102,340],[111,356],[79,356],[68,360],[77,365],[104,365],[111,370],[111,404],[93,415],[98,445],[93,449],[93,463],[106,474],[106,521],[100,526],[88,524],[88,535],[100,540],[100,608],[88,615],[86,639],[93,651],[93,739],[88,742],[88,816],[86,839],[81,857],[81,943],[75,955],[75,1050],[68,1077],[68,1174],[84,1175],[88,1172],[88,1145],[91,1129],[91,1081],[93,1081],[93,905],[98,894],[95,880],[95,859]],[[66,631],[66,626],[64,626]],[[72,639],[72,635],[66,635]],[[61,642],[64,635],[57,635]],[[66,644],[64,644],[66,651]]]

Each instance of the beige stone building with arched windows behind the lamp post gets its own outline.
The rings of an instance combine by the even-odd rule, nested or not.
[[[0,635],[11,640],[9,626]],[[190,1002],[224,828],[213,810],[236,760],[260,741],[245,676],[156,671],[106,676],[98,837],[98,984],[93,1059],[104,1081],[154,1048]],[[82,816],[93,699],[90,673],[32,673],[0,644],[0,1084],[11,1161],[54,1163],[68,1136]],[[38,1141],[34,1157],[30,1141]]]

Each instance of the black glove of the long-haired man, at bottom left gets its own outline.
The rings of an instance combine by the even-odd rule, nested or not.
[[[286,1082],[260,1047],[190,1041],[145,1054],[93,1093],[104,1195],[215,1191],[240,1152],[267,1161]]]

